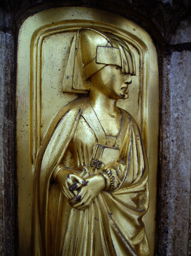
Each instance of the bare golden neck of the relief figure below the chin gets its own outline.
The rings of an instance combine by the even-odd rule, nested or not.
[[[117,99],[111,99],[105,94],[102,94],[99,90],[92,88],[89,92],[89,101],[95,111],[106,111],[109,114],[116,115]]]

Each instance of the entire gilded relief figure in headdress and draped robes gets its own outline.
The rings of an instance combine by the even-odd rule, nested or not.
[[[149,255],[147,157],[138,125],[117,107],[133,75],[125,41],[76,32],[63,91],[79,97],[58,111],[37,154],[35,256]]]

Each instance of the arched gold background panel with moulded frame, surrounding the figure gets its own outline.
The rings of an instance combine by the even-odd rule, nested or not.
[[[148,33],[132,21],[113,13],[79,7],[37,13],[24,21],[19,31],[16,91],[19,255],[29,255],[32,251],[34,177],[45,135],[60,109],[87,92],[75,88],[63,91],[71,41],[81,28],[112,33],[124,40],[134,55],[136,75],[131,76],[129,97],[119,99],[117,106],[134,117],[146,148],[149,209],[143,221],[150,255],[153,255],[159,114],[155,46]]]

